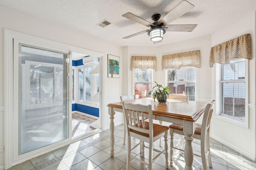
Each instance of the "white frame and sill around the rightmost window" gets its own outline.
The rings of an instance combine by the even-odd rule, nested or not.
[[[215,72],[215,84],[216,84],[216,99],[219,99],[219,102],[216,102],[216,118],[221,119],[223,121],[226,121],[228,123],[232,123],[241,127],[246,127],[247,129],[249,128],[248,126],[248,66],[249,66],[249,61],[248,59],[245,59],[245,117],[243,119],[239,119],[236,117],[228,116],[225,114],[222,114],[222,81],[221,81],[221,64],[214,64],[214,72]],[[225,81],[226,82],[226,81]]]

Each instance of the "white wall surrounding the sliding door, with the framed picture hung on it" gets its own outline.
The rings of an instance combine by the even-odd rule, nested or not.
[[[122,61],[122,48],[101,41],[86,33],[74,31],[61,25],[50,23],[48,21],[30,16],[24,12],[19,12],[12,8],[0,5],[0,146],[4,146],[4,29],[42,37],[52,41],[73,45],[76,47],[89,49],[92,51],[104,53],[104,119],[103,129],[109,127],[109,115],[106,105],[111,102],[118,102],[122,94],[120,86],[121,78],[107,78],[107,54],[119,56]],[[122,65],[121,65],[122,66]],[[10,114],[10,113],[8,113]],[[116,124],[122,122],[122,117],[115,117]],[[4,167],[4,152],[0,152],[0,170]]]

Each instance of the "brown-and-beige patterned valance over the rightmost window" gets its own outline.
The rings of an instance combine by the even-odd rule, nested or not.
[[[251,59],[250,34],[244,34],[211,48],[209,66],[214,63],[227,64],[230,59]]]

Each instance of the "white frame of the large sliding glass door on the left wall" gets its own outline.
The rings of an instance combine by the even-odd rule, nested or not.
[[[5,101],[5,106],[4,106],[4,157],[5,157],[5,169],[10,168],[11,166],[14,166],[16,164],[19,164],[21,162],[24,162],[26,160],[29,160],[31,158],[34,158],[36,156],[42,155],[44,153],[50,152],[54,149],[63,147],[65,145],[68,145],[70,143],[73,143],[75,141],[78,141],[84,137],[80,137],[80,138],[76,138],[74,140],[72,140],[72,132],[71,132],[71,128],[69,128],[69,138],[64,140],[64,141],[60,141],[58,143],[54,143],[52,145],[49,145],[48,147],[44,147],[41,149],[37,149],[34,150],[32,152],[28,152],[26,154],[23,154],[22,157],[21,156],[15,156],[14,155],[14,135],[18,135],[18,134],[14,134],[13,133],[13,125],[15,123],[18,123],[17,119],[14,119],[14,110],[15,110],[15,106],[14,106],[14,100],[17,100],[15,97],[15,94],[17,94],[18,90],[14,89],[14,72],[18,71],[18,68],[13,67],[13,65],[15,65],[15,61],[14,60],[14,48],[18,49],[18,43],[14,41],[17,41],[19,43],[24,43],[24,44],[28,44],[28,45],[33,45],[33,46],[38,46],[38,47],[42,47],[42,48],[46,48],[46,49],[53,49],[56,51],[62,51],[65,53],[70,53],[69,55],[69,59],[70,59],[70,66],[68,69],[68,75],[69,75],[69,96],[70,96],[70,106],[72,104],[72,51],[76,52],[76,53],[82,53],[82,54],[86,54],[86,55],[90,55],[90,56],[94,56],[94,57],[98,57],[100,58],[100,67],[102,68],[102,66],[104,66],[104,61],[102,60],[103,57],[105,57],[104,53],[98,53],[95,51],[90,51],[87,49],[83,49],[80,47],[75,47],[72,45],[67,45],[64,43],[58,43],[56,41],[51,41],[48,39],[43,39],[40,37],[35,37],[32,35],[28,35],[28,34],[24,34],[24,33],[19,33],[16,31],[12,31],[9,29],[4,29],[4,101]],[[17,55],[17,54],[16,54]],[[105,123],[104,123],[104,117],[105,115],[102,114],[102,110],[105,108],[103,106],[104,104],[104,97],[102,97],[102,95],[104,95],[104,88],[102,87],[102,84],[104,84],[104,78],[103,78],[103,69],[100,68],[100,129],[98,129],[98,131],[95,131],[94,133],[90,133],[90,135],[94,135],[101,130],[102,127],[105,127]],[[16,77],[15,77],[16,78]],[[69,126],[71,127],[71,117],[72,111],[71,111],[71,107],[69,108]]]

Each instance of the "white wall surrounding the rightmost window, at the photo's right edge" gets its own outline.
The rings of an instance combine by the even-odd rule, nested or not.
[[[252,59],[249,61],[249,128],[234,125],[214,115],[211,122],[211,135],[214,139],[255,160],[255,12],[212,33],[212,47],[246,33],[250,33],[252,46]],[[215,85],[212,90],[215,98],[218,96]],[[218,106],[216,112],[220,112]]]

